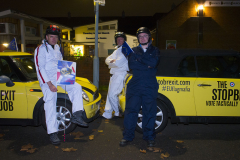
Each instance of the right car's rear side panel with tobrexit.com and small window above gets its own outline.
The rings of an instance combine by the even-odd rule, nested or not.
[[[176,116],[196,116],[194,83],[196,68],[194,57],[189,56],[179,62],[174,77],[157,77],[159,93],[173,104]]]

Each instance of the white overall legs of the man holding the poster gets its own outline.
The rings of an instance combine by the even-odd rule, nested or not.
[[[65,90],[65,85],[60,85],[62,89]],[[44,110],[47,124],[47,133],[51,134],[58,132],[58,123],[57,123],[57,112],[56,112],[56,102],[57,102],[57,92],[52,92],[48,85],[45,83],[41,85],[43,92],[44,100]],[[73,85],[66,85],[66,91],[70,101],[72,102],[72,113],[84,110],[83,109],[83,100],[82,100],[82,86],[78,83]]]

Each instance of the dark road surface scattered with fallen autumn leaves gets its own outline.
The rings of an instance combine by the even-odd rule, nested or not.
[[[65,142],[59,135],[62,143],[54,146],[42,126],[0,126],[1,160],[240,159],[239,124],[173,125],[169,121],[166,129],[156,135],[156,151],[147,148],[138,132],[129,145],[120,147],[122,131],[123,118],[99,117],[89,128],[77,127],[67,134]]]

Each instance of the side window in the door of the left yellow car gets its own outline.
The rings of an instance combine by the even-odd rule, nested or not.
[[[12,81],[20,81],[11,65],[4,59],[0,58],[0,76],[5,75],[9,77]]]

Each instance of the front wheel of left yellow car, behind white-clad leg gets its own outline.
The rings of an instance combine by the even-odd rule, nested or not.
[[[56,118],[58,123],[58,133],[64,134],[64,129],[65,134],[72,132],[77,127],[76,124],[70,122],[70,118],[72,116],[72,104],[70,102],[66,102],[65,105],[65,100],[58,99],[56,110],[57,110]],[[43,128],[47,130],[44,109],[42,111],[42,122]]]

